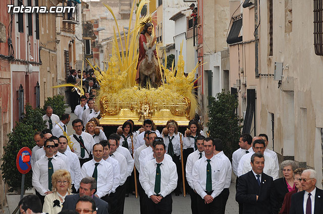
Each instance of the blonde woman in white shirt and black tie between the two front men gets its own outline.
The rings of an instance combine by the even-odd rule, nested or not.
[[[180,141],[181,133],[178,132],[178,126],[175,120],[168,121],[166,128],[167,130],[165,131],[163,130],[162,136],[164,139],[164,143],[166,145],[166,152],[172,157],[173,162],[176,164],[178,180],[177,180],[177,187],[174,191],[175,191],[175,195],[179,196],[181,193],[181,180],[182,180],[181,179],[182,166],[180,163],[180,155],[181,155],[181,144],[183,144],[183,141]]]

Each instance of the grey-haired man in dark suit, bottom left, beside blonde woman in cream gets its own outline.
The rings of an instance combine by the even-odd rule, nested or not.
[[[78,199],[84,195],[87,195],[87,196],[93,197],[93,200],[96,205],[96,214],[107,214],[109,205],[104,200],[94,196],[95,187],[96,187],[96,181],[94,178],[91,178],[91,177],[83,178],[80,183],[80,193],[75,195],[67,195],[65,197],[62,210],[64,209],[75,210],[75,205]]]

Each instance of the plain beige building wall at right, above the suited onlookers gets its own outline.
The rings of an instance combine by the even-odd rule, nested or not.
[[[272,77],[260,79],[261,91],[267,95],[261,98],[261,117],[265,118],[268,111],[275,113],[275,151],[306,162],[303,164],[315,168],[321,181],[323,60],[314,53],[313,2],[292,1],[291,6],[291,1],[286,0],[282,4],[274,4],[273,56],[267,56],[268,6],[260,1],[261,23],[264,23],[260,27],[261,73],[273,74],[275,62],[283,62],[285,66],[279,89],[278,81]],[[261,123],[262,130],[268,130],[266,124],[266,121]]]

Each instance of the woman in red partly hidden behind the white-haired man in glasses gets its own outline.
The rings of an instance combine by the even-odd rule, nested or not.
[[[284,202],[283,202],[283,205],[282,205],[282,208],[281,208],[279,214],[289,214],[289,210],[291,207],[291,201],[292,201],[292,195],[295,194],[296,192],[303,191],[303,187],[301,184],[301,181],[302,181],[301,175],[304,170],[305,170],[305,168],[298,168],[298,169],[294,170],[294,178],[295,178],[294,184],[296,186],[296,189],[294,189],[291,192],[288,192],[285,195]]]

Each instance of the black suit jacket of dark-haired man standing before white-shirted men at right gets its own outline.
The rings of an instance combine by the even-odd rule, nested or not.
[[[273,178],[261,174],[261,184],[252,171],[239,177],[236,201],[243,203],[243,213],[277,214],[277,200],[275,199],[275,185]],[[258,200],[256,199],[258,195]]]

